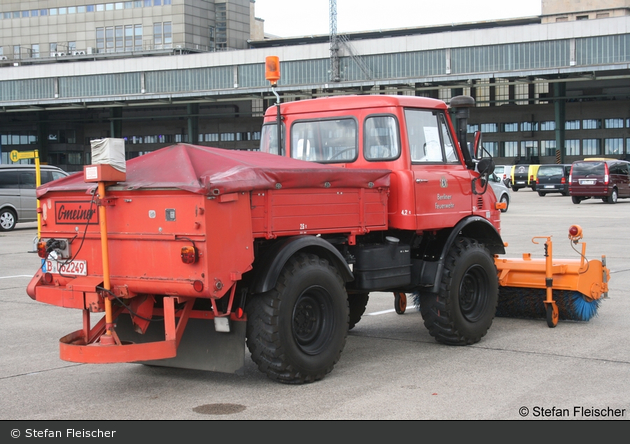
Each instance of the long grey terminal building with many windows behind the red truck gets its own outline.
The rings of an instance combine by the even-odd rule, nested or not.
[[[257,149],[276,101],[269,55],[283,102],[471,95],[469,131],[498,164],[630,154],[630,0],[542,0],[540,16],[365,30],[334,47],[265,35],[254,0],[89,1],[0,4],[2,163],[37,149],[77,171],[103,137],[124,138],[128,158],[178,142]]]

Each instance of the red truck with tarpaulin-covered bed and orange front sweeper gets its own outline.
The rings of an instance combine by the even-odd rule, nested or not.
[[[239,373],[247,349],[271,379],[305,383],[332,371],[372,292],[399,314],[412,295],[448,345],[480,341],[497,315],[554,327],[597,309],[608,269],[585,244],[561,264],[548,237],[542,259],[502,257],[471,97],[280,103],[278,58],[266,67],[278,101],[259,151],[177,144],[125,162],[103,139],[83,174],[38,188],[27,293],[83,319],[61,359]]]

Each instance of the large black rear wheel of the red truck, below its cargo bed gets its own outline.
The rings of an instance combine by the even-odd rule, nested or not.
[[[328,261],[299,253],[273,290],[247,304],[247,347],[269,378],[288,384],[322,379],[348,336],[348,295]]]

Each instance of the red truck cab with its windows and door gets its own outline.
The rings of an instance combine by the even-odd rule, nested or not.
[[[470,167],[470,154],[459,149],[444,102],[365,95],[279,106],[282,129],[271,107],[260,150],[341,168],[391,170],[390,229],[440,230],[476,215],[500,231],[494,194],[485,192],[479,172]]]

